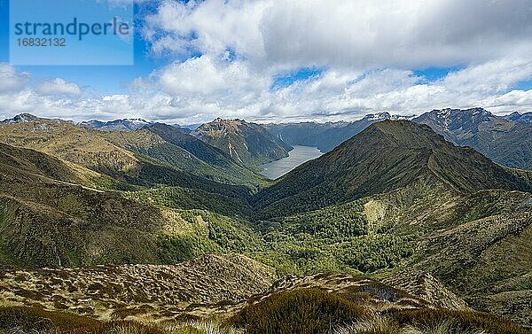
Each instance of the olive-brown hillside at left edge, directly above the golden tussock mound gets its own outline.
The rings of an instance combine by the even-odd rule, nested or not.
[[[204,252],[245,252],[261,241],[241,221],[207,211],[183,210],[195,191],[171,193],[173,209],[141,204],[137,191],[83,187],[78,171],[42,152],[0,145],[0,267],[75,267],[101,263],[175,263]],[[168,183],[208,183],[161,172]],[[174,178],[172,178],[174,177]],[[229,187],[229,186],[227,186]],[[163,188],[164,189],[164,188]],[[232,188],[225,190],[230,191]],[[237,196],[239,188],[233,192]],[[224,191],[221,184],[212,191]],[[192,194],[189,194],[192,193]],[[199,192],[205,208],[245,206],[236,198]],[[221,237],[223,235],[223,237]],[[231,237],[232,236],[232,237]],[[245,240],[245,242],[243,241]]]

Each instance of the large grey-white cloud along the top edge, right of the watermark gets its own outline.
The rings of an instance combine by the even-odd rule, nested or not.
[[[410,69],[528,54],[532,7],[528,0],[166,0],[145,32],[158,51],[176,51],[176,43],[204,54],[229,49],[254,66]]]

